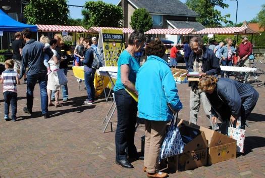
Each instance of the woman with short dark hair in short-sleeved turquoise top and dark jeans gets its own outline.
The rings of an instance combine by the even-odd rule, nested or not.
[[[130,158],[138,158],[139,156],[134,145],[137,103],[125,91],[125,88],[138,95],[135,90],[135,81],[140,65],[134,58],[134,54],[141,50],[145,40],[143,33],[138,31],[131,33],[128,39],[128,47],[122,52],[118,60],[118,77],[114,86],[118,116],[115,135],[116,163],[126,168],[133,168],[133,165],[127,160],[126,148],[128,148]]]

